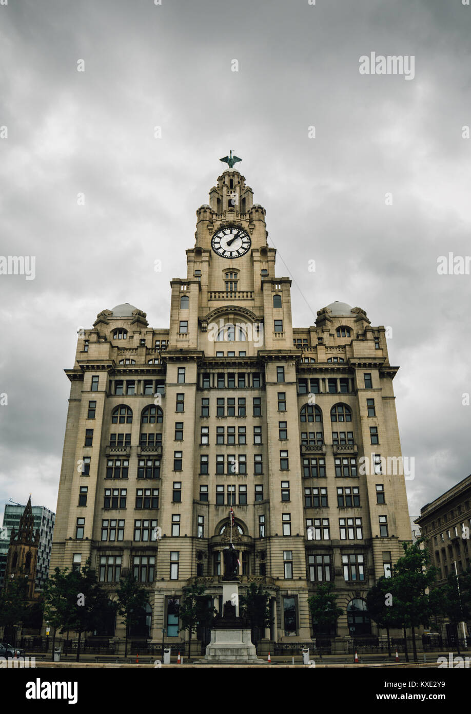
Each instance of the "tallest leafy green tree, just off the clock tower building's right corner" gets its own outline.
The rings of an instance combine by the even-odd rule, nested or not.
[[[423,538],[419,538],[415,543],[402,543],[404,555],[393,565],[393,578],[390,578],[390,592],[393,594],[393,617],[402,623],[405,645],[407,643],[405,629],[411,628],[412,630],[412,650],[415,662],[417,661],[415,628],[425,625],[430,619],[432,612],[429,596],[425,590],[434,583],[438,572],[435,566],[429,565],[427,550],[420,549],[423,540]],[[407,658],[407,645],[405,654]]]

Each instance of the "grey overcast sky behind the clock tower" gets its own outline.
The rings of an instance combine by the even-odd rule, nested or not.
[[[437,274],[471,255],[470,29],[461,0],[0,6],[0,253],[36,256],[34,280],[0,275],[2,513],[30,492],[56,510],[77,329],[123,302],[168,327],[229,149],[293,324],[339,300],[393,328],[410,515],[470,473],[471,276]],[[413,79],[360,74],[373,51],[414,56]]]

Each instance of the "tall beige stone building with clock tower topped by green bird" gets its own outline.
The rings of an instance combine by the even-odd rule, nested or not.
[[[361,308],[334,302],[293,327],[291,281],[235,158],[196,211],[169,326],[126,303],[79,333],[51,568],[91,558],[111,598],[131,570],[151,590],[131,637],[178,643],[185,585],[221,610],[232,507],[240,592],[271,596],[262,636],[310,640],[307,600],[328,580],[345,615],[324,634],[374,634],[365,594],[410,540],[397,367]],[[122,638],[119,618],[96,635]]]

